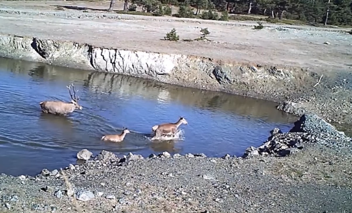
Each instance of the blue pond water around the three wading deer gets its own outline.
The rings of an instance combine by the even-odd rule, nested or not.
[[[83,110],[67,117],[42,113],[40,101],[70,100],[70,82]],[[0,164],[0,173],[12,175],[67,166],[81,149],[241,155],[266,140],[274,127],[289,130],[296,119],[272,102],[5,58],[0,58],[0,97],[0,161],[7,162]],[[153,125],[179,116],[188,121],[180,127],[182,140],[149,140]],[[123,127],[131,131],[123,142],[100,140]]]

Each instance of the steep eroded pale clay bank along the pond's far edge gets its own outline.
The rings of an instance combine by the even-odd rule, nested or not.
[[[332,122],[351,123],[352,113],[339,110],[314,71],[267,64],[222,62],[200,56],[95,47],[90,44],[15,35],[0,35],[0,57],[70,68],[107,71],[180,86],[228,92],[278,102],[278,109],[302,115],[314,112]],[[319,91],[320,90],[320,91]],[[311,98],[312,96],[323,97]],[[329,96],[328,98],[324,96]],[[352,100],[352,99],[351,99]],[[338,105],[338,101],[333,101]],[[319,108],[322,107],[322,108]],[[329,108],[333,113],[326,112]],[[351,110],[350,107],[346,106]],[[321,110],[322,109],[322,110]],[[336,113],[338,111],[338,113]]]

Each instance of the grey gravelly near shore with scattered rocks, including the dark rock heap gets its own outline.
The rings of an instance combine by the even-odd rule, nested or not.
[[[351,138],[314,114],[241,157],[119,158],[77,153],[77,165],[35,177],[0,175],[7,212],[348,212]],[[285,157],[283,157],[285,156]],[[307,197],[311,199],[306,199]],[[300,205],[297,205],[300,203]]]

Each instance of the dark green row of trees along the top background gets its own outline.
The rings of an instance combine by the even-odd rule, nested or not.
[[[171,5],[178,6],[177,17],[227,20],[228,14],[264,15],[268,19],[291,19],[311,24],[352,25],[352,0],[124,0],[124,11],[171,15]],[[108,11],[112,11],[111,0]],[[201,10],[203,12],[201,13]],[[221,17],[218,13],[222,12]]]

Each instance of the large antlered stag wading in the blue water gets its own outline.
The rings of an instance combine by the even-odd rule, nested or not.
[[[71,86],[73,90],[73,96],[71,94]],[[56,115],[67,115],[68,113],[71,113],[75,111],[75,109],[80,109],[82,110],[83,107],[78,105],[78,100],[79,97],[76,98],[76,92],[75,87],[71,83],[71,85],[66,86],[68,88],[68,91],[71,96],[71,102],[63,102],[63,101],[43,101],[40,102],[40,107],[42,108],[42,111],[45,113],[49,114],[56,114]]]

